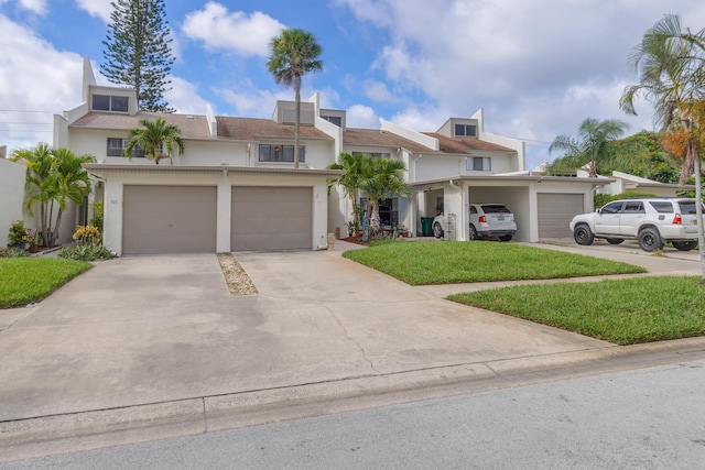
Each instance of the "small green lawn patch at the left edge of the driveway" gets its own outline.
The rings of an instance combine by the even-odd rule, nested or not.
[[[0,258],[0,308],[41,300],[91,266],[56,258]]]

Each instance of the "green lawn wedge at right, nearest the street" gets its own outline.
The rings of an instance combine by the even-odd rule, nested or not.
[[[705,335],[705,285],[699,277],[524,285],[448,299],[617,345]]]

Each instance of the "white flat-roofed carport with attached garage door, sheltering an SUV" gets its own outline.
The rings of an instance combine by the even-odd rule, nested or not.
[[[609,183],[609,181],[607,181]],[[443,212],[455,220],[445,238],[468,240],[470,203],[505,204],[514,214],[514,240],[538,242],[570,238],[573,216],[593,210],[593,193],[604,179],[539,175],[458,176],[413,185],[417,220]],[[451,225],[453,227],[453,225]]]

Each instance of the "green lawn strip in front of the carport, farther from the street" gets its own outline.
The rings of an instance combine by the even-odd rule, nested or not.
[[[627,263],[494,241],[395,241],[347,251],[343,255],[411,285],[646,272]]]

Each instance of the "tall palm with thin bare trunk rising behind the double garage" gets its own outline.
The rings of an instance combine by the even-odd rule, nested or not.
[[[321,45],[316,37],[300,29],[282,31],[270,42],[272,55],[267,62],[267,69],[274,76],[276,84],[291,87],[295,91],[295,131],[294,131],[294,167],[299,167],[299,140],[301,132],[301,77],[308,72],[323,69],[323,62],[318,59]]]

